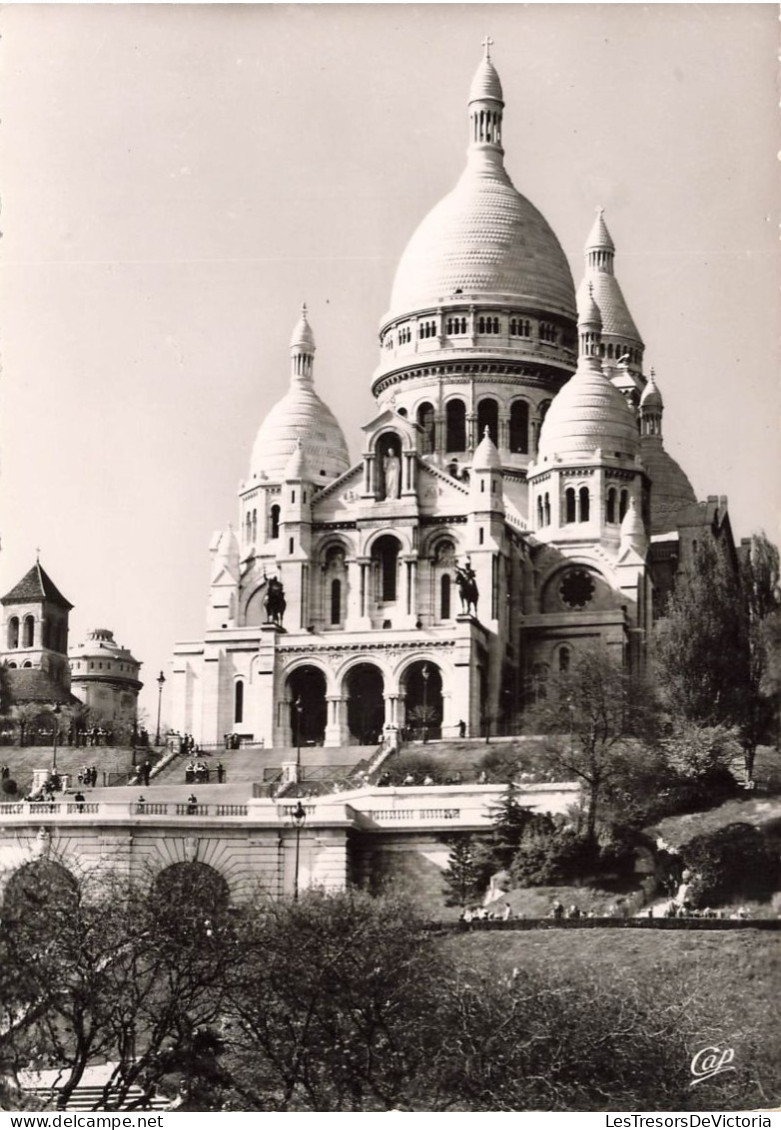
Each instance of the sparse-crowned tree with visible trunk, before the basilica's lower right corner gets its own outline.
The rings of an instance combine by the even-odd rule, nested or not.
[[[642,758],[639,745],[656,738],[657,706],[648,684],[605,647],[584,647],[570,671],[548,680],[527,714],[527,727],[548,734],[547,768],[583,785],[585,835],[593,840],[609,790]]]

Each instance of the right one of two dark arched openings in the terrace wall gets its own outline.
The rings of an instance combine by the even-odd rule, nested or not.
[[[231,890],[225,878],[197,860],[172,863],[155,876],[149,892],[153,914],[172,937],[198,945],[212,937],[226,916]]]

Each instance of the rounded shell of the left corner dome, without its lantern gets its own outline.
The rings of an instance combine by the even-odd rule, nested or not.
[[[253,477],[281,483],[298,440],[306,446],[315,483],[328,483],[349,467],[345,436],[333,412],[304,382],[295,382],[261,424],[246,486]]]

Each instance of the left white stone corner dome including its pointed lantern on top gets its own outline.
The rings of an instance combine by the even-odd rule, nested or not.
[[[290,339],[290,388],[260,426],[252,449],[250,479],[281,483],[288,460],[301,442],[312,481],[324,485],[349,467],[347,444],[331,409],[314,391],[314,334],[306,307]]]

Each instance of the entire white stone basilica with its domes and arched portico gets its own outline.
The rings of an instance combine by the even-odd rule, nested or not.
[[[575,288],[505,164],[504,112],[486,47],[463,172],[380,319],[355,462],[301,311],[288,391],[211,542],[206,632],[176,647],[180,732],[347,748],[424,715],[431,737],[517,732],[562,647],[588,637],[642,669],[670,563],[727,529],[724,499],[697,502],[665,450],[602,209]]]

